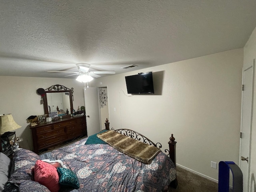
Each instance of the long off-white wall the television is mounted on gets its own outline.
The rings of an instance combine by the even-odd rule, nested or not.
[[[97,78],[91,86],[108,86],[110,128],[136,130],[163,149],[173,133],[177,164],[218,180],[211,161],[238,164],[242,66],[243,49],[236,49]],[[126,96],[124,77],[149,71],[155,94]]]

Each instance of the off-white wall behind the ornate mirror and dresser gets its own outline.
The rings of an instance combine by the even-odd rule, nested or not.
[[[15,130],[16,136],[24,140],[32,150],[32,136],[26,119],[31,115],[44,114],[44,106],[40,104],[41,96],[36,93],[38,88],[48,88],[61,84],[74,88],[74,109],[84,106],[84,84],[74,79],[34,78],[0,76],[0,114],[11,113],[17,124],[22,126]]]

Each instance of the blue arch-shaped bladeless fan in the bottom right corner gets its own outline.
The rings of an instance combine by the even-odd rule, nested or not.
[[[243,191],[243,174],[241,169],[232,161],[219,162],[218,192],[229,192],[230,170],[233,175],[232,192],[242,192]]]

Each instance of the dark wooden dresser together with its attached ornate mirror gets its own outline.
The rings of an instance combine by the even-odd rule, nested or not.
[[[54,94],[54,96],[52,94]],[[57,99],[53,100],[52,98]],[[65,141],[80,136],[87,136],[85,116],[72,116],[68,114],[68,111],[73,111],[73,88],[69,89],[58,84],[51,86],[45,90],[43,100],[45,114],[51,112],[48,109],[54,109],[57,106],[60,110],[63,110],[63,108],[67,110],[65,115],[56,116],[49,122],[42,122],[36,126],[31,126],[30,124],[34,152],[38,153],[40,150],[54,147]],[[60,103],[60,100],[68,102]]]

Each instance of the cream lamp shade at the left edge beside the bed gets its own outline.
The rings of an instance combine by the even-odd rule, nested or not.
[[[14,121],[12,114],[0,115],[0,133],[16,130],[18,128],[21,128],[21,126]]]

